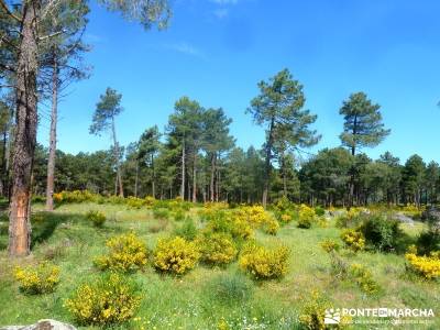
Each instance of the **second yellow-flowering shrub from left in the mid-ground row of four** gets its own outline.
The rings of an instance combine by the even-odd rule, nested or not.
[[[182,275],[193,270],[200,257],[200,252],[194,242],[176,237],[161,239],[154,251],[154,266],[162,272]]]

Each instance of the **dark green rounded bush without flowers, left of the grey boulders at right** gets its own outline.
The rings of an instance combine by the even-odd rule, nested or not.
[[[403,235],[399,222],[382,215],[365,217],[360,231],[365,237],[367,244],[383,251],[395,249],[397,241]]]

